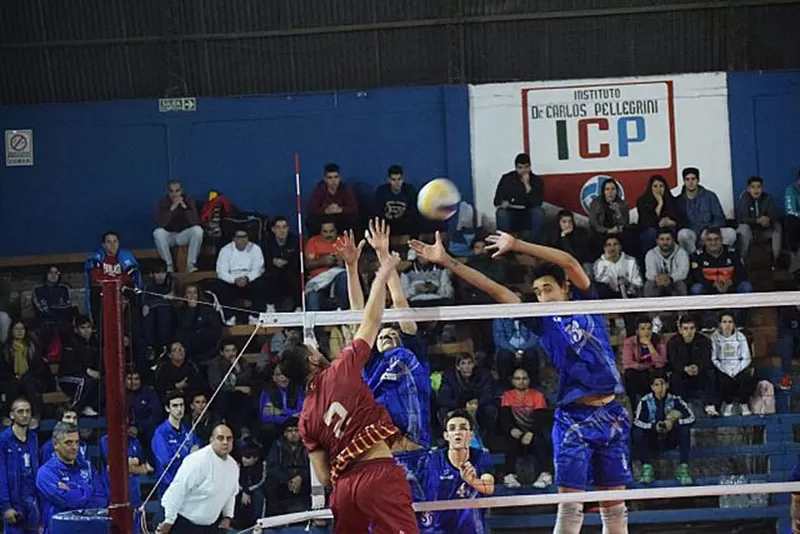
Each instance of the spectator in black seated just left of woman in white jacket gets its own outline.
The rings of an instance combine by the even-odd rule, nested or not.
[[[691,315],[678,320],[678,335],[667,343],[667,366],[670,372],[670,389],[684,399],[698,399],[704,403],[706,414],[719,415],[713,399],[708,398],[713,379],[711,367],[711,341],[697,332],[697,323]]]

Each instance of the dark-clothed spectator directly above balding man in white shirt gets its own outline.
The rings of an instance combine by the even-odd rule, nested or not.
[[[222,385],[214,403],[220,416],[231,425],[234,433],[238,433],[243,426],[249,425],[253,412],[253,376],[250,364],[244,358],[233,365],[239,354],[235,339],[223,339],[219,346],[219,355],[208,367],[208,383],[215,391]],[[225,378],[229,370],[231,372]]]

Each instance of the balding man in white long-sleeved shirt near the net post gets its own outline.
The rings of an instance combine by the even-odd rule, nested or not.
[[[239,465],[230,456],[233,432],[217,425],[210,445],[193,452],[161,498],[158,534],[218,534],[230,529],[239,493]]]

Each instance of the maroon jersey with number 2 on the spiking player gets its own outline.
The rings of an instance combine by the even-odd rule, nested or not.
[[[328,453],[332,482],[352,460],[399,433],[361,376],[371,354],[364,340],[355,339],[308,384],[300,437],[309,452],[324,449]]]

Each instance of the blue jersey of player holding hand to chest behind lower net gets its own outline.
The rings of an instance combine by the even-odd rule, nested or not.
[[[492,457],[485,449],[470,448],[469,461],[478,476],[492,471]],[[426,500],[474,499],[481,495],[478,490],[461,478],[461,473],[447,457],[447,449],[432,450],[427,464],[424,472]],[[484,534],[488,532],[486,509],[424,512],[420,517],[420,532],[422,534]]]

